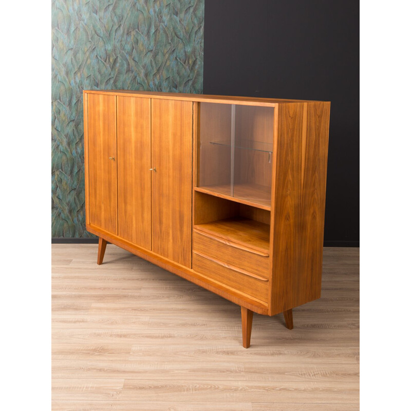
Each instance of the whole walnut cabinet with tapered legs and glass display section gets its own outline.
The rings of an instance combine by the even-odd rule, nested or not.
[[[252,314],[321,294],[329,102],[84,91],[86,228]]]

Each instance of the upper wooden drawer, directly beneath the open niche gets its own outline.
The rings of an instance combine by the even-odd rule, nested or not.
[[[224,261],[250,273],[269,277],[270,258],[268,254],[217,238],[208,233],[193,231],[193,251]]]

